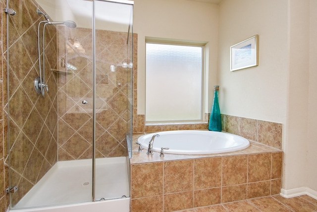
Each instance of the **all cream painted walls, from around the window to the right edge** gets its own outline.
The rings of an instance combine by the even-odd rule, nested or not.
[[[313,39],[317,34],[314,26],[317,3],[314,0],[222,0],[219,5],[180,0],[134,2],[138,114],[145,114],[145,37],[209,41],[209,90],[215,84],[220,85],[221,113],[282,123],[282,187],[286,190],[308,187],[316,191],[317,43]],[[256,34],[259,66],[230,72],[230,46]],[[209,97],[208,109],[211,100]]]

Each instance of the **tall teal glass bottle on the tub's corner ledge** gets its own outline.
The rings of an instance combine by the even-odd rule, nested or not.
[[[220,115],[220,108],[218,103],[218,91],[219,91],[219,86],[215,85],[208,129],[211,131],[221,132],[221,115]]]

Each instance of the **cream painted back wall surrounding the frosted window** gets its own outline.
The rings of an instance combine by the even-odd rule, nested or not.
[[[138,34],[138,114],[145,114],[146,36],[208,42],[207,69],[211,74],[207,77],[209,90],[213,89],[216,83],[218,5],[187,0],[134,0],[133,14],[133,32]]]

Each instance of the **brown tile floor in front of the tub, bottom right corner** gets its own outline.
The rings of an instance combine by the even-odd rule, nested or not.
[[[289,199],[274,195],[178,212],[317,212],[317,200],[308,195]]]

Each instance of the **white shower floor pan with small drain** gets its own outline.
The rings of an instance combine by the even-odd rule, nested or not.
[[[96,200],[103,198],[106,200],[98,203],[122,196],[129,197],[127,159],[125,157],[96,159]],[[130,200],[124,197],[123,199]],[[83,203],[91,200],[92,160],[58,161],[14,209]]]

